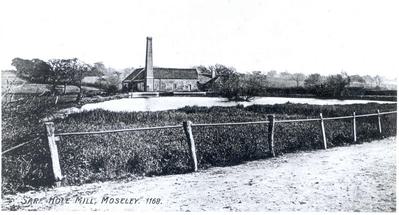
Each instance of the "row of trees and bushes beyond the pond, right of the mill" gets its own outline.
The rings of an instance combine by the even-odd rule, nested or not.
[[[358,87],[364,89],[366,83],[374,82],[376,88],[382,84],[380,76],[348,75],[342,71],[340,74],[322,76],[318,73],[306,76],[303,73],[282,72],[278,74],[275,70],[269,72],[253,71],[243,74],[233,67],[216,64],[211,66],[199,66],[203,73],[215,73],[218,77],[207,85],[201,86],[202,90],[210,90],[230,100],[250,100],[254,96],[268,96],[272,94],[271,88],[289,88],[293,94],[312,94],[318,97],[340,98],[351,94],[349,86],[351,83],[360,84]],[[295,83],[287,87],[286,82]],[[358,93],[358,92],[355,92]]]

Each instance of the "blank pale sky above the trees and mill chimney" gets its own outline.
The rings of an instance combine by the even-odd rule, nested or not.
[[[225,64],[240,72],[399,71],[399,1],[0,1],[0,69],[14,57],[114,68]]]

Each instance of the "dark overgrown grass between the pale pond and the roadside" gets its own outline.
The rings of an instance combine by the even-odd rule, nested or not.
[[[72,114],[55,121],[57,132],[96,131],[194,123],[240,122],[314,118],[396,110],[396,104],[360,105],[253,105],[249,107],[185,107],[176,111],[113,113],[103,110]],[[377,133],[376,117],[359,118],[359,142],[396,135],[396,115],[382,117],[383,134]],[[328,147],[351,142],[351,120],[326,121]],[[44,128],[37,126],[44,132]],[[44,134],[44,133],[43,133]],[[199,168],[234,165],[266,158],[267,126],[194,127]],[[51,181],[45,137],[3,156],[3,193],[43,186]],[[277,153],[319,149],[319,122],[277,124]],[[107,135],[62,137],[58,142],[61,168],[67,184],[82,184],[141,175],[190,171],[188,146],[182,128],[124,132]]]

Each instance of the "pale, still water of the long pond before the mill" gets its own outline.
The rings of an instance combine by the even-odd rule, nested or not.
[[[255,97],[252,101],[229,101],[216,96],[160,96],[150,98],[129,98],[129,94],[118,94],[108,97],[84,98],[76,107],[64,108],[43,121],[63,119],[72,113],[102,109],[112,112],[140,112],[140,111],[167,111],[177,110],[186,106],[198,107],[232,107],[242,105],[274,105],[274,104],[310,104],[310,105],[347,105],[347,104],[394,104],[392,101],[375,100],[339,100],[318,98],[291,98],[291,97]]]

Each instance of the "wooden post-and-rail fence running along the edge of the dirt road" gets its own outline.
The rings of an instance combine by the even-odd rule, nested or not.
[[[193,171],[198,170],[198,161],[197,161],[197,155],[196,155],[196,146],[195,146],[195,140],[194,136],[192,134],[192,127],[212,127],[212,126],[237,126],[237,125],[252,125],[252,124],[267,124],[268,125],[268,146],[269,146],[269,151],[271,156],[276,156],[275,154],[275,149],[274,149],[274,128],[276,123],[292,123],[292,122],[314,122],[314,121],[320,121],[320,128],[321,128],[321,133],[323,137],[323,142],[321,145],[321,148],[327,149],[327,140],[326,140],[326,134],[325,134],[325,127],[324,127],[324,121],[326,120],[339,120],[339,119],[352,119],[353,122],[353,141],[357,141],[357,135],[356,135],[356,118],[360,117],[372,117],[372,116],[377,116],[377,126],[378,126],[378,131],[379,133],[382,133],[382,127],[381,127],[381,115],[388,115],[388,114],[394,114],[397,113],[397,111],[388,111],[388,112],[380,112],[377,110],[376,113],[372,114],[360,114],[356,115],[355,112],[353,112],[352,116],[337,116],[337,117],[326,117],[323,118],[323,114],[320,113],[319,118],[308,118],[308,119],[283,119],[283,120],[276,120],[274,115],[267,115],[267,120],[266,121],[252,121],[252,122],[227,122],[227,123],[198,123],[194,124],[191,121],[185,121],[183,122],[182,125],[166,125],[166,126],[156,126],[156,127],[143,127],[143,128],[128,128],[128,129],[117,129],[117,130],[105,130],[105,131],[83,131],[83,132],[64,132],[64,133],[56,133],[55,128],[54,128],[54,123],[53,122],[46,122],[46,133],[47,133],[47,140],[49,144],[49,149],[50,149],[50,155],[51,155],[51,162],[52,162],[52,168],[53,168],[53,174],[54,174],[54,181],[56,186],[61,185],[61,180],[63,179],[63,176],[61,174],[61,168],[60,168],[60,163],[59,163],[59,156],[58,156],[58,150],[57,150],[57,144],[56,141],[59,141],[59,137],[61,136],[73,136],[73,135],[93,135],[93,134],[109,134],[109,133],[119,133],[119,132],[134,132],[134,131],[148,131],[148,130],[159,130],[159,129],[173,129],[173,128],[183,128],[185,136],[187,138],[187,143],[188,143],[188,148],[189,153],[190,153],[190,160],[192,163],[192,169]],[[12,148],[9,148],[5,151],[2,152],[2,154],[5,154],[7,152],[10,152],[12,150],[15,150],[23,145],[26,145],[28,143],[33,142],[33,140],[25,142],[23,144],[14,146]]]

